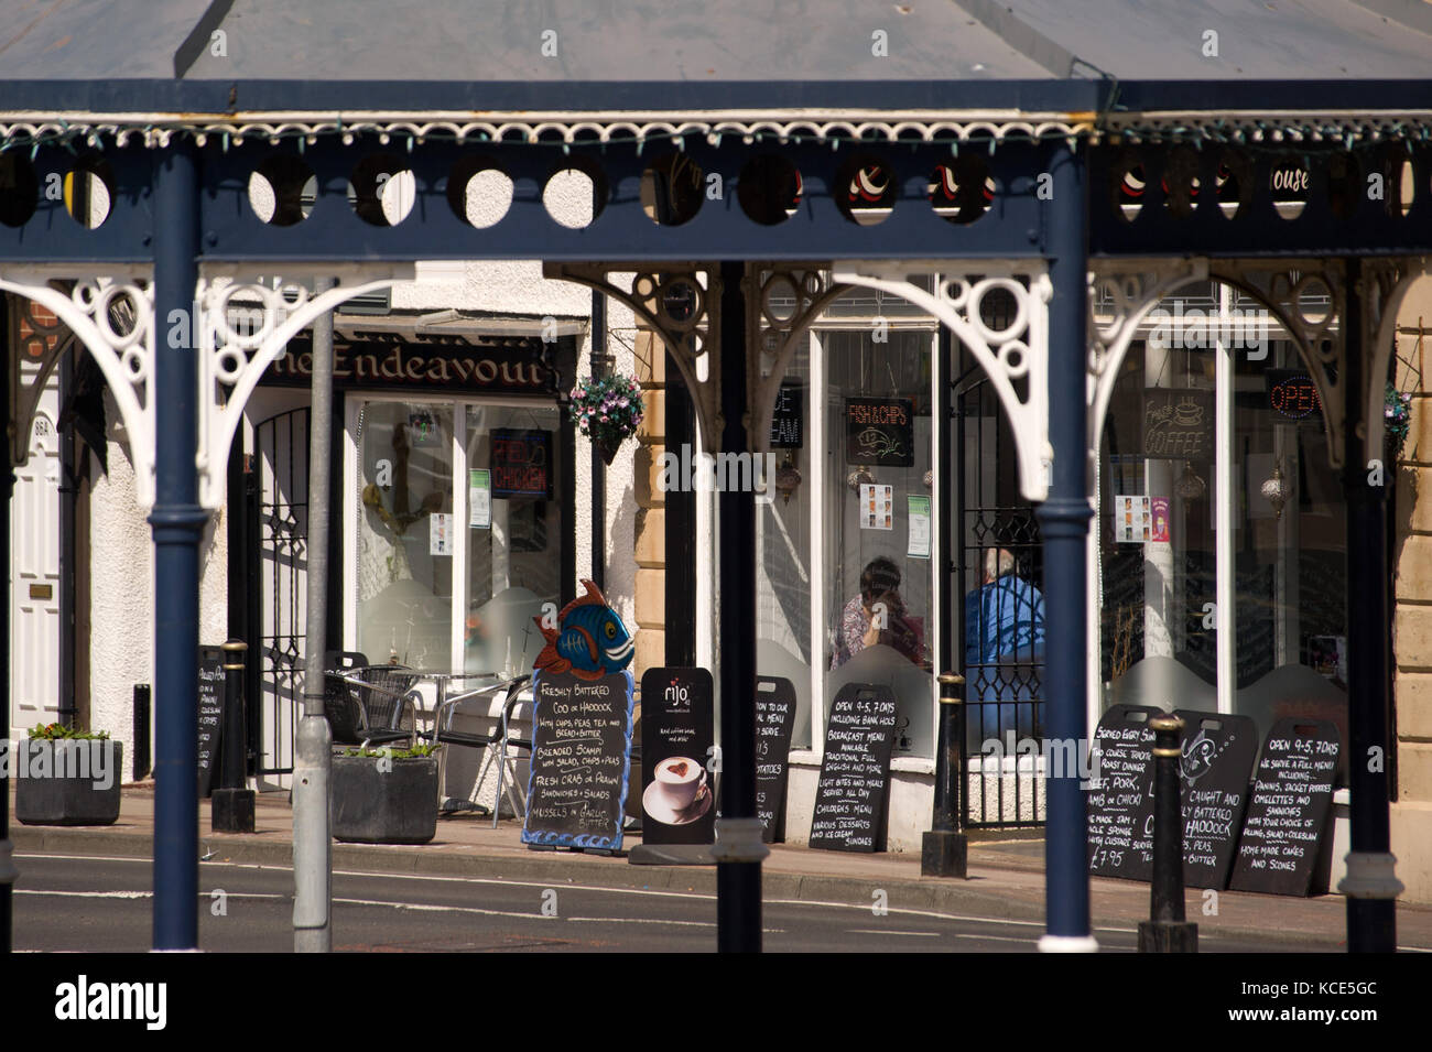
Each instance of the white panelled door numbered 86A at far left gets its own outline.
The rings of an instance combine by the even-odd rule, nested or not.
[[[10,505],[10,727],[16,736],[60,719],[59,401],[59,381],[52,375]]]

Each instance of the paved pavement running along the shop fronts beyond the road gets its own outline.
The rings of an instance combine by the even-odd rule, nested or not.
[[[289,866],[292,810],[285,793],[258,797],[258,832],[209,833],[208,803],[200,803],[200,854],[216,863]],[[87,854],[147,857],[152,853],[153,787],[127,786],[120,819],[105,827],[11,824],[16,850],[29,854]],[[629,843],[639,843],[630,837]],[[19,860],[21,883],[24,859]],[[579,852],[533,852],[520,840],[520,826],[504,820],[457,814],[438,819],[432,843],[404,847],[334,844],[337,870],[487,877],[583,887],[617,887],[712,895],[713,866],[634,866],[624,857]],[[1090,905],[1095,927],[1131,930],[1148,916],[1148,885],[1094,877]],[[977,842],[969,847],[969,879],[922,877],[912,854],[845,854],[773,844],[763,866],[768,905],[839,903],[871,907],[885,902],[892,910],[929,910],[949,916],[1041,923],[1044,919],[1042,840]],[[1190,889],[1189,919],[1200,935],[1256,940],[1287,949],[1342,946],[1346,909],[1337,895],[1286,896],[1220,892],[1216,903]],[[1216,912],[1207,912],[1213,906]],[[1432,907],[1400,905],[1398,943],[1432,952]]]

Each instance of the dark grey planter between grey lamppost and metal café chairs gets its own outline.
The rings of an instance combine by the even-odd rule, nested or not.
[[[379,766],[381,764],[381,766]],[[438,832],[438,761],[335,756],[334,839],[425,844]]]

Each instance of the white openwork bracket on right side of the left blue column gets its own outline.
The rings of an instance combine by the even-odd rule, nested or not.
[[[278,269],[268,272],[272,275]],[[229,447],[243,417],[243,406],[259,378],[284,351],[288,341],[322,313],[365,292],[411,281],[412,263],[285,265],[272,278],[248,266],[205,266],[195,302],[199,306],[199,504],[211,511],[223,505],[229,468]],[[314,295],[318,276],[337,285]],[[249,306],[252,323],[238,319]],[[233,316],[231,316],[231,308]],[[166,319],[186,322],[188,319]],[[175,331],[170,328],[170,338]]]

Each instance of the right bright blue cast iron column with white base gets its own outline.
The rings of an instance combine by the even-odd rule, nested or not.
[[[1087,739],[1084,706],[1085,607],[1088,574],[1090,479],[1084,402],[1088,316],[1088,193],[1084,156],[1057,143],[1045,147],[1044,170],[1053,198],[1044,208],[1044,250],[1054,295],[1050,299],[1050,495],[1035,517],[1044,538],[1044,631],[1048,696],[1045,734],[1063,741]],[[1057,754],[1057,753],[1055,753]],[[1077,767],[1077,764],[1075,764]],[[1088,926],[1088,836],[1084,790],[1077,770],[1048,773],[1045,781],[1044,896],[1045,952],[1097,949]]]

